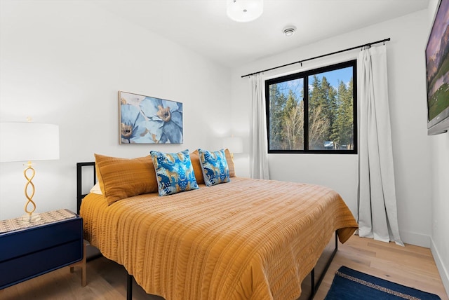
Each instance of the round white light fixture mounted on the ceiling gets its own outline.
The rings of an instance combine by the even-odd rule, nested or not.
[[[227,0],[227,16],[236,22],[250,22],[262,15],[263,0]]]

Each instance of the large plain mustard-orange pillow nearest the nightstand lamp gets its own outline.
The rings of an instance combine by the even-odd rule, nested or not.
[[[95,154],[100,189],[107,203],[157,191],[156,174],[151,156],[117,158]]]

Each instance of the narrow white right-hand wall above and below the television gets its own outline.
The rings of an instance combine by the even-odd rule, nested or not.
[[[438,5],[429,3],[429,32]],[[431,145],[432,238],[431,250],[449,293],[449,133],[429,137]]]

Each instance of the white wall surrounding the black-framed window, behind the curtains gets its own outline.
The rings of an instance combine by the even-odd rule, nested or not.
[[[387,42],[388,82],[399,229],[404,242],[430,247],[431,149],[426,127],[424,64],[427,24],[427,11],[420,11],[244,65],[233,70],[232,98],[233,123],[236,128],[248,128],[247,115],[236,114],[235,109],[250,107],[248,79],[241,79],[241,75],[390,37],[391,41]],[[305,62],[302,69],[349,60],[356,55],[358,50]],[[300,67],[276,70],[276,74],[270,71],[265,76],[294,69],[297,71]],[[248,135],[248,131],[241,135]],[[270,154],[269,168],[272,179],[332,187],[343,196],[355,215],[357,159],[356,155]],[[245,167],[248,170],[248,159],[238,168]]]

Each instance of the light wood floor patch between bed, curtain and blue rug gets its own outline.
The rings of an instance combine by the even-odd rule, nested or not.
[[[339,244],[338,252],[315,299],[324,299],[340,266],[437,294],[442,300],[448,300],[448,294],[428,248],[414,245],[402,247],[394,243],[352,236],[343,245]]]

